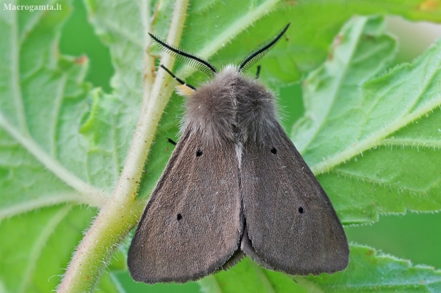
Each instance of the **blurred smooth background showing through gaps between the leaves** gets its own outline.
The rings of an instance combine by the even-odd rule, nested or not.
[[[60,52],[65,55],[86,55],[90,60],[87,81],[105,92],[111,92],[110,79],[113,74],[110,53],[102,45],[87,22],[83,2],[74,1],[74,11],[63,28]],[[388,30],[398,36],[400,52],[395,64],[413,60],[420,55],[435,38],[441,37],[441,26],[406,23],[399,18],[388,19]],[[423,33],[422,33],[423,31]],[[302,89],[299,84],[280,90],[282,111],[285,112],[285,128],[292,126],[302,115]],[[289,116],[286,115],[289,113]],[[441,214],[407,214],[381,216],[371,226],[345,227],[349,241],[370,245],[398,258],[412,260],[414,264],[425,264],[441,269]],[[131,288],[129,292],[198,292],[198,284],[136,284],[127,272],[116,274]]]

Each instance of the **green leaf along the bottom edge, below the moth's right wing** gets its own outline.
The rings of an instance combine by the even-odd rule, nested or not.
[[[362,245],[351,245],[343,272],[308,277],[289,276],[259,267],[249,258],[228,271],[199,281],[202,292],[438,292],[441,271],[412,265]]]

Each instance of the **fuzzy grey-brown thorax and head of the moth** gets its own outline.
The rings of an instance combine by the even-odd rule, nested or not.
[[[274,94],[228,65],[187,97],[181,131],[191,127],[210,143],[262,143],[273,131],[276,117]]]

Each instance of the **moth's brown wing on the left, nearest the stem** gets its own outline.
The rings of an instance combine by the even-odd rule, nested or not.
[[[238,250],[241,229],[234,144],[208,144],[187,129],[134,233],[130,275],[147,283],[197,280]]]

